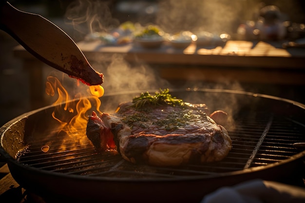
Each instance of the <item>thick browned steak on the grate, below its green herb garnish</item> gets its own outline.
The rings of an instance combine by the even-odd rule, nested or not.
[[[231,149],[228,131],[209,116],[206,105],[122,103],[114,114],[89,116],[87,137],[97,150],[117,149],[132,163],[179,166],[220,161]]]

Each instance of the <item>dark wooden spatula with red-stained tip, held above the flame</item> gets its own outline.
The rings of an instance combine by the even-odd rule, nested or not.
[[[0,1],[0,29],[49,66],[87,85],[103,83],[103,74],[91,67],[71,37],[46,18]]]

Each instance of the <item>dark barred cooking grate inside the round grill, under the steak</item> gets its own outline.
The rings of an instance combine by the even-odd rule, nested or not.
[[[239,114],[236,126],[229,130],[233,148],[220,162],[181,167],[134,165],[119,154],[99,154],[89,143],[79,144],[66,134],[35,141],[18,154],[20,163],[57,173],[109,178],[183,178],[213,176],[280,162],[300,152],[293,143],[305,142],[305,126],[286,117],[266,112]],[[85,132],[83,131],[84,136]],[[45,143],[49,143],[45,146]],[[49,147],[47,151],[42,147]]]

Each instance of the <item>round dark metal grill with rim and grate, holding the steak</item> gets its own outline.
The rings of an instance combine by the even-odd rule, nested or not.
[[[1,155],[20,185],[51,202],[195,203],[221,186],[251,179],[301,180],[305,151],[293,144],[305,142],[305,105],[251,92],[197,89],[171,93],[232,115],[234,125],[228,131],[233,148],[224,160],[182,167],[133,165],[120,155],[97,153],[89,141],[58,132],[51,116],[53,106],[4,125]],[[101,100],[111,104],[107,111],[114,111],[121,96],[126,100],[134,95],[105,95]],[[84,128],[77,133],[86,136]],[[48,150],[44,152],[43,147]]]

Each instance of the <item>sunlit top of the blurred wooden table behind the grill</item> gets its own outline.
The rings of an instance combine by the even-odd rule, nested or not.
[[[157,49],[139,45],[105,46],[99,41],[77,43],[88,60],[100,54],[124,54],[128,61],[142,60],[153,64],[183,64],[222,67],[305,68],[305,49],[283,49],[282,42],[229,40],[224,46],[198,47],[192,43],[185,49],[164,44]],[[237,57],[238,56],[238,57]],[[107,57],[103,57],[103,59]],[[302,64],[303,62],[303,64]]]

